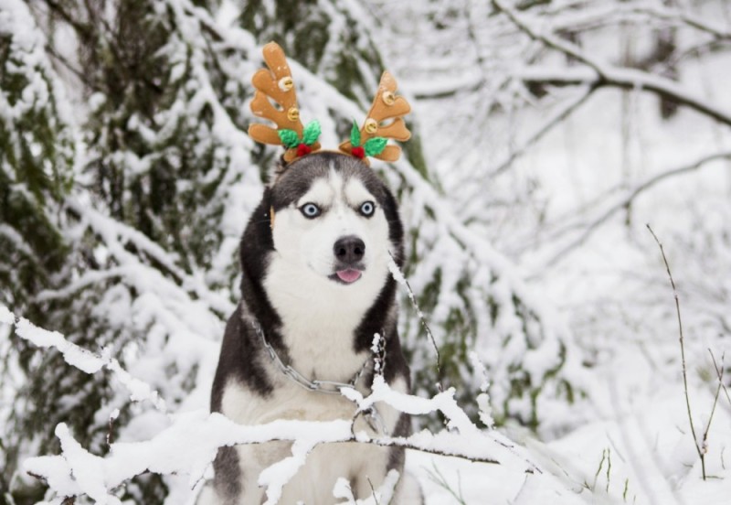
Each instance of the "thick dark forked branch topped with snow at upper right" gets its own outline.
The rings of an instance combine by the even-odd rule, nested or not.
[[[535,27],[533,23],[526,19],[527,16],[518,14],[513,8],[506,5],[503,0],[493,0],[493,5],[495,5],[496,9],[503,12],[513,22],[514,26],[524,32],[529,38],[541,42],[546,47],[561,52],[567,55],[567,57],[576,59],[586,65],[588,70],[593,70],[593,72],[586,72],[585,70],[579,69],[576,72],[567,72],[566,69],[561,69],[548,71],[543,76],[541,76],[540,72],[535,72],[533,75],[528,73],[526,76],[530,78],[530,81],[545,81],[552,84],[564,85],[585,84],[611,86],[630,90],[641,89],[652,91],[665,98],[682,103],[720,123],[731,126],[731,112],[724,111],[716,107],[714,103],[694,96],[694,94],[676,82],[642,70],[618,68],[599,59],[595,59],[576,44],[562,38],[557,38],[553,34],[546,33],[545,30]]]

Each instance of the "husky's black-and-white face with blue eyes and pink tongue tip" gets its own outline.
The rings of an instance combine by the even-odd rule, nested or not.
[[[271,203],[277,289],[349,298],[357,291],[372,303],[389,254],[400,255],[402,231],[395,200],[370,167],[353,156],[304,156],[271,188]]]

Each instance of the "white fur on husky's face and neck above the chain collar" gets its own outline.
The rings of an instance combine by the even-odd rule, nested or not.
[[[332,171],[288,209],[277,212],[274,253],[264,287],[280,315],[291,366],[311,379],[349,381],[367,352],[355,354],[353,332],[373,305],[388,274],[388,223],[382,209],[371,218],[357,209],[375,201],[363,184]],[[313,202],[323,214],[309,220],[300,207]],[[343,285],[334,274],[334,243],[355,235],[365,243],[360,279]]]

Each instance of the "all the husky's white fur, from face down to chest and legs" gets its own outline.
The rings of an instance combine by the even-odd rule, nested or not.
[[[386,283],[390,242],[386,215],[377,204],[372,217],[359,214],[365,201],[376,203],[359,180],[345,181],[332,170],[328,177],[315,181],[302,199],[277,212],[272,230],[275,252],[263,284],[281,317],[290,364],[311,380],[350,381],[371,359],[370,351],[355,353],[354,332]],[[308,202],[317,204],[323,214],[314,220],[305,218],[300,208]],[[349,235],[365,243],[365,270],[355,283],[344,285],[328,276],[334,274],[334,242]],[[262,397],[229,381],[221,405],[228,418],[240,424],[353,418],[354,403],[340,395],[305,391],[265,360],[272,393]],[[407,389],[402,380],[393,387],[401,392]],[[362,381],[357,389],[366,392]],[[393,432],[398,412],[382,404],[376,408],[387,433]],[[360,430],[371,431],[362,416],[355,423],[355,431]],[[241,504],[258,505],[262,501],[264,491],[257,486],[256,478],[264,468],[290,456],[290,447],[290,443],[283,442],[237,447],[244,476]],[[280,503],[335,503],[334,484],[341,477],[353,483],[358,498],[365,498],[371,493],[370,486],[377,488],[385,478],[387,457],[388,449],[378,446],[317,446],[284,487]]]

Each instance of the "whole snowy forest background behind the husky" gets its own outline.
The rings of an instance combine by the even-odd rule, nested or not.
[[[725,503],[726,0],[0,0],[0,304],[173,412],[207,408],[238,240],[279,156],[246,134],[270,40],[323,145],[396,76],[414,136],[374,168],[441,356],[438,374],[403,293],[415,392],[454,387],[555,477],[409,455],[428,503]],[[58,454],[59,422],[103,456],[117,410],[119,440],[167,422],[0,325],[0,503],[54,497],[23,460]],[[180,488],[145,474],[117,494]]]

